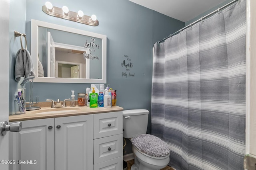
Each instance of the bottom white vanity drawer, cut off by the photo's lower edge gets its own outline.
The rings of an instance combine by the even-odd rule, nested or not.
[[[93,166],[93,170],[122,170],[123,169],[123,156],[107,160],[105,162]]]

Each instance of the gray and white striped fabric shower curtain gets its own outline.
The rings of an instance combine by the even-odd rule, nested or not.
[[[246,0],[154,44],[152,134],[176,170],[242,170]]]

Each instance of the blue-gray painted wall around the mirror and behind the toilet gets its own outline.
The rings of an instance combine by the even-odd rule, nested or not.
[[[52,17],[42,11],[47,0],[10,0],[10,114],[14,112],[13,92],[19,87],[14,80],[15,54],[20,48],[20,39],[14,39],[13,31],[25,32],[30,51],[31,19],[65,25],[107,36],[107,84],[117,90],[117,105],[124,109],[151,109],[152,47],[170,33],[184,27],[184,22],[134,4],[128,0],[52,0],[53,6],[68,6],[70,11],[83,10],[85,15],[95,14],[99,25],[96,27]],[[15,3],[16,2],[16,3]],[[24,2],[24,3],[23,3]],[[25,5],[26,2],[26,5]],[[20,11],[22,9],[22,11]],[[24,18],[24,16],[26,18]],[[20,24],[19,24],[20,23]],[[13,45],[14,44],[14,45]],[[129,74],[121,66],[127,55],[133,67]],[[34,98],[64,100],[70,98],[70,90],[85,92],[90,84],[34,83]],[[105,86],[106,87],[106,86]],[[28,84],[26,84],[28,91]],[[150,122],[150,121],[149,121]],[[149,124],[150,132],[150,124]]]

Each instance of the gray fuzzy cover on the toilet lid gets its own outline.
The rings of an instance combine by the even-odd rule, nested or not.
[[[132,138],[132,145],[141,152],[154,157],[167,156],[171,151],[167,143],[150,134],[142,134]]]

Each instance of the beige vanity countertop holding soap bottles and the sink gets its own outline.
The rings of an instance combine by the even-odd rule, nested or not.
[[[88,114],[106,113],[106,112],[122,111],[122,110],[123,108],[119,106],[112,106],[111,108],[104,108],[104,107],[92,108],[87,106],[76,106],[76,107],[67,106],[67,107],[60,107],[60,108],[41,107],[41,109],[26,111],[26,113],[21,115],[9,115],[9,122],[45,119],[45,118],[52,118],[52,117],[88,115]],[[52,113],[46,113],[48,111],[51,111]]]

